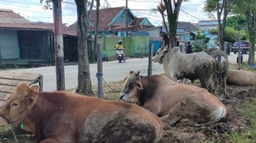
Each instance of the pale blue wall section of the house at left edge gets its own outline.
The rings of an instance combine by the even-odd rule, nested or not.
[[[0,50],[2,59],[19,58],[17,30],[0,30]]]

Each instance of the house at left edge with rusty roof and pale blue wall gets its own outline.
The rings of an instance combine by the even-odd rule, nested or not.
[[[50,61],[50,31],[11,9],[0,9],[0,64]]]

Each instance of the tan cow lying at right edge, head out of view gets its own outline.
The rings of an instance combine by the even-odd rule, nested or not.
[[[229,68],[227,85],[253,86],[256,85],[256,74],[247,70],[233,70]]]

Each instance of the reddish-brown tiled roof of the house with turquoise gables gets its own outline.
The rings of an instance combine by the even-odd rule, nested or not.
[[[112,7],[99,10],[99,26],[98,31],[123,31],[125,30],[125,24],[119,23],[109,26],[109,23],[122,11],[124,7]],[[96,10],[92,10],[90,14],[90,22],[96,25]],[[139,31],[147,28],[154,27],[153,25],[140,25],[145,18],[136,18],[133,20],[128,27],[129,31]],[[77,30],[77,21],[69,27]],[[88,31],[94,31],[94,26],[89,26]]]

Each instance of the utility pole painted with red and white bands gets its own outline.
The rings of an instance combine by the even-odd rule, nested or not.
[[[61,0],[53,0],[53,23],[57,90],[65,90]]]

